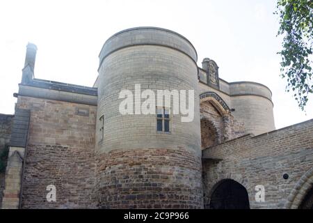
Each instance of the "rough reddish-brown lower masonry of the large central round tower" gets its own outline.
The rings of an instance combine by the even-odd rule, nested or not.
[[[203,208],[200,157],[184,148],[96,157],[99,208]]]

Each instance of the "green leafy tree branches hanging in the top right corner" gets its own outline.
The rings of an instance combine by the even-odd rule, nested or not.
[[[281,77],[287,78],[286,90],[293,91],[304,110],[309,93],[313,93],[312,39],[313,0],[278,0],[275,14],[280,17],[278,35],[284,36]]]

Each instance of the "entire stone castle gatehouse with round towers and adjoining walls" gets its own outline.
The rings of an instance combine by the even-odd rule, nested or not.
[[[225,179],[246,188],[250,208],[298,208],[312,190],[313,120],[275,130],[266,86],[218,79],[211,87],[193,45],[154,27],[116,33],[99,59],[97,88],[34,79],[26,66],[10,141],[26,145],[25,166],[11,154],[5,208],[17,208],[20,191],[22,208],[207,208]],[[154,114],[122,116],[118,95],[135,84],[194,90],[194,120],[172,115],[165,134]],[[6,144],[10,121],[3,123],[0,116]],[[265,202],[255,201],[256,185],[264,185]]]

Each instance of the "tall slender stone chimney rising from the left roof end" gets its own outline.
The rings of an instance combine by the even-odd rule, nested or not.
[[[33,79],[33,70],[35,68],[37,47],[33,43],[26,46],[25,64],[22,72],[22,84],[27,84]]]

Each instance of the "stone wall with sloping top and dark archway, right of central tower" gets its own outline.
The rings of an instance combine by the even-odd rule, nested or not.
[[[313,119],[255,137],[246,135],[227,141],[204,150],[203,156],[211,158],[203,163],[206,206],[214,186],[230,178],[246,187],[250,208],[286,208],[294,199],[291,195],[302,191],[300,196],[304,197],[303,191],[313,184],[303,181],[310,178],[308,174],[313,175]],[[289,178],[284,179],[284,174]],[[265,187],[264,202],[255,201],[256,185]]]

